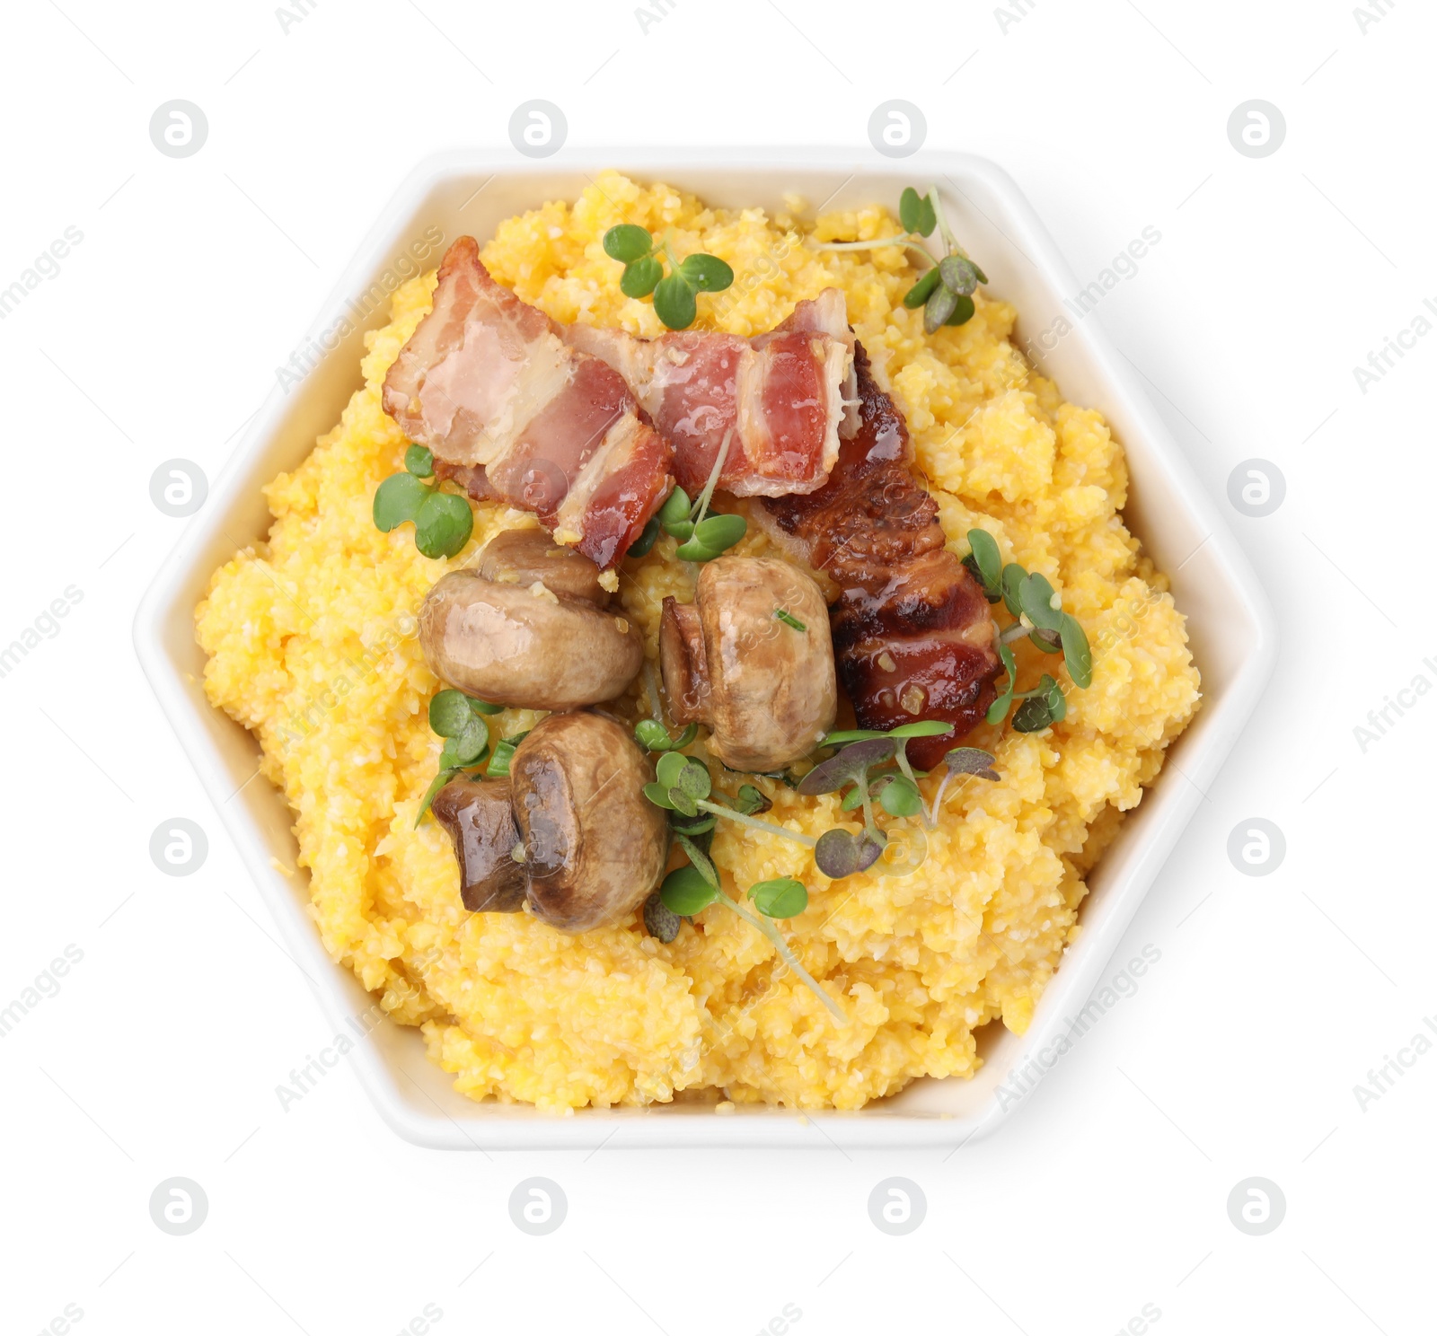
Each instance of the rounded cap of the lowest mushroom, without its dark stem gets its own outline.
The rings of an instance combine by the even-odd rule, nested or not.
[[[668,823],[642,789],[648,759],[602,714],[550,714],[509,761],[529,908],[566,932],[637,909],[664,875]]]

